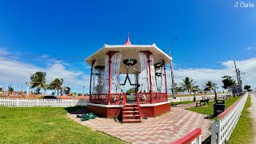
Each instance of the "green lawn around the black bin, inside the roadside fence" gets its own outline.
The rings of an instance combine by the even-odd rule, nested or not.
[[[235,97],[235,98],[229,98],[226,101],[226,106],[225,109],[227,109],[228,107],[230,107],[234,102],[236,102],[240,97]],[[212,116],[214,114],[214,102],[209,102],[210,106],[199,106],[199,107],[190,107],[190,108],[186,108],[186,110],[191,110],[197,113],[201,113],[201,114],[208,114],[210,116]],[[214,118],[214,120],[217,120],[217,118]]]

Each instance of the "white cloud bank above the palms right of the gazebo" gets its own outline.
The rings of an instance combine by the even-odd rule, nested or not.
[[[241,78],[243,86],[250,85],[252,88],[256,87],[256,58],[250,58],[242,61],[236,61],[237,68],[241,71]],[[193,78],[196,82],[195,85],[202,86],[205,85],[207,81],[212,81],[217,83],[218,90],[222,90],[222,76],[230,75],[237,81],[237,76],[234,68],[234,61],[222,62],[222,65],[225,66],[223,69],[214,70],[214,69],[178,69],[174,70],[174,78],[176,83],[182,82],[182,79],[185,77]],[[242,74],[245,73],[245,74]],[[170,70],[167,71],[168,77],[168,87],[170,88],[171,79],[170,79]]]

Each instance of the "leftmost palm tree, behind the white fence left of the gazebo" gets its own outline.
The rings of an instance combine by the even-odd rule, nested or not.
[[[41,89],[45,90],[47,89],[46,84],[46,72],[38,71],[35,74],[30,75],[30,85],[31,88],[37,87],[36,93],[39,94]]]

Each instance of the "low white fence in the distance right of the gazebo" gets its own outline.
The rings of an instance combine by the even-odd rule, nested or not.
[[[226,96],[231,96],[232,94],[218,94],[218,98],[226,98]],[[207,94],[207,95],[197,95],[195,96],[196,100],[201,100],[202,98],[210,98],[210,99],[214,99],[215,94]],[[176,99],[172,99],[172,98],[168,98],[169,101],[171,102],[186,102],[186,101],[193,101],[194,100],[194,96],[190,96],[190,97],[180,97],[180,98],[176,98]]]

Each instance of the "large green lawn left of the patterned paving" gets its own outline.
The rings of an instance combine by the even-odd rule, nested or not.
[[[74,110],[0,106],[0,143],[124,143],[74,122],[66,116]]]

